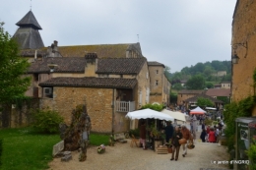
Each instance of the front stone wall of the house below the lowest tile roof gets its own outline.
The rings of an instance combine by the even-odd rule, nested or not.
[[[53,98],[42,98],[41,107],[57,110],[69,125],[71,112],[79,104],[87,104],[92,121],[92,131],[110,133],[112,131],[111,88],[53,87]]]

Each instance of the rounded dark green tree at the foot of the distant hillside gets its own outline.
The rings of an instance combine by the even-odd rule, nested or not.
[[[204,77],[201,75],[196,75],[187,81],[186,87],[188,89],[204,89],[205,84],[206,84],[206,81]]]

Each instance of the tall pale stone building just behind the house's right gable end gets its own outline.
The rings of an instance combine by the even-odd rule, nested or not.
[[[170,83],[164,75],[165,66],[156,61],[149,61],[149,77],[151,78],[151,103],[169,104]]]

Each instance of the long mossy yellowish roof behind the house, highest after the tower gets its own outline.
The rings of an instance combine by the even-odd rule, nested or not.
[[[143,56],[140,43],[58,46],[58,51],[63,57],[85,57],[86,52],[96,52],[98,58],[126,58],[126,51],[131,49]],[[40,48],[40,51],[46,55],[47,48]],[[21,51],[21,55],[32,57],[34,50]]]

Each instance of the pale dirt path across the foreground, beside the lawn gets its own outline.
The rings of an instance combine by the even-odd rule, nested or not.
[[[188,149],[186,157],[182,157],[182,148],[177,161],[170,161],[171,154],[157,154],[153,150],[130,147],[127,143],[116,143],[106,146],[106,152],[96,153],[96,146],[88,149],[88,158],[79,162],[79,152],[72,152],[73,159],[61,162],[54,158],[49,163],[52,170],[200,170],[200,168],[228,169],[224,164],[213,164],[216,160],[228,160],[224,146],[216,143],[195,142],[194,149]]]

